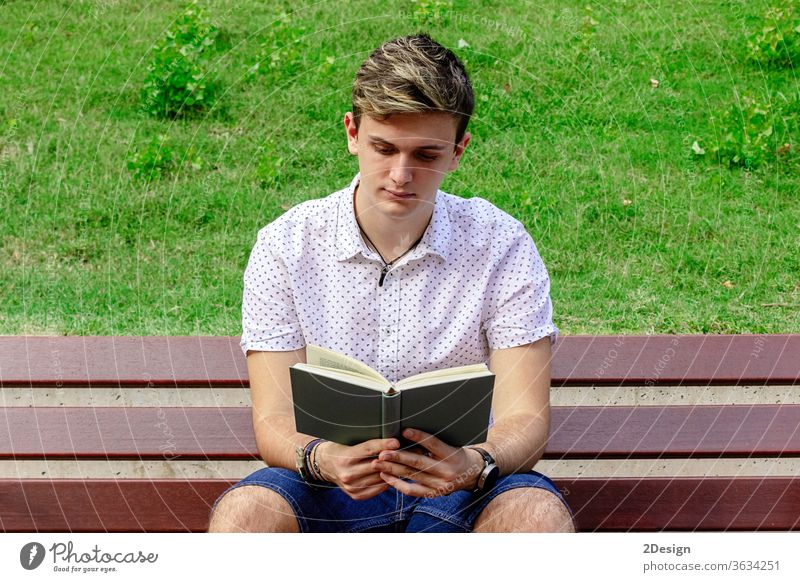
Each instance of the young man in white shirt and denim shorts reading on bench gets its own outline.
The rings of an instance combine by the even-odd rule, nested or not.
[[[259,232],[245,272],[242,349],[268,468],[228,490],[210,531],[573,531],[530,471],[549,426],[549,278],[523,225],[439,191],[470,140],[474,97],[452,52],[425,35],[364,62],[344,126],[360,173]],[[313,343],[394,382],[488,361],[485,443],[412,431],[355,446],[294,429],[289,367]],[[499,478],[498,478],[499,475]]]

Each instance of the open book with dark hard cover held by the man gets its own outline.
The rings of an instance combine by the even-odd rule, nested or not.
[[[309,344],[306,363],[295,364],[289,374],[298,432],[344,445],[400,438],[405,428],[454,447],[486,440],[494,389],[486,364],[425,372],[392,384],[354,358]]]

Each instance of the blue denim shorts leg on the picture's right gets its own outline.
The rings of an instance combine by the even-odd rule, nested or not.
[[[529,471],[500,477],[492,490],[482,495],[462,490],[442,497],[421,500],[413,509],[406,531],[472,531],[478,516],[493,499],[501,493],[519,487],[535,487],[549,491],[569,510],[555,483],[537,471]],[[572,515],[572,510],[569,511]]]

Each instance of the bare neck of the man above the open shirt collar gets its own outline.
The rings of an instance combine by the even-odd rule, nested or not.
[[[426,215],[397,220],[387,219],[375,212],[360,212],[357,193],[358,188],[353,193],[356,222],[366,234],[368,242],[372,243],[387,263],[395,261],[414,246],[425,233],[433,216],[433,208]]]

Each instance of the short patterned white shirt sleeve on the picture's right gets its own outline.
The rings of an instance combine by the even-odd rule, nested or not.
[[[547,336],[551,345],[556,343],[550,277],[522,223],[489,278],[487,302],[483,327],[490,348],[512,348]]]

